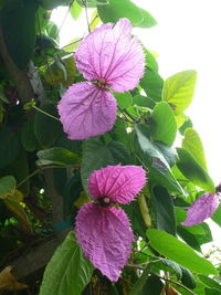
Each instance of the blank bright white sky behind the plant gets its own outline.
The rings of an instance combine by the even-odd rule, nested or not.
[[[164,78],[185,70],[198,72],[192,104],[186,114],[199,133],[210,176],[221,182],[220,107],[221,107],[221,0],[134,0],[150,12],[158,24],[134,29],[145,46],[159,54],[159,73]],[[60,44],[87,34],[85,13],[76,22],[67,8],[53,11],[52,21],[60,31]],[[91,17],[93,9],[88,10]],[[65,21],[63,22],[63,20]],[[62,24],[63,22],[63,24]],[[213,222],[212,222],[213,223]],[[217,245],[221,244],[220,228],[212,224]]]

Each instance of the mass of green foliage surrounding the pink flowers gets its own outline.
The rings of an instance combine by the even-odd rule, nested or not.
[[[201,255],[201,246],[212,241],[210,226],[181,224],[198,197],[215,193],[200,136],[185,115],[197,72],[162,78],[154,54],[144,48],[146,65],[139,85],[114,93],[118,109],[113,129],[70,140],[59,120],[57,103],[66,87],[83,81],[70,55],[83,36],[59,46],[60,29],[50,21],[51,10],[59,6],[70,9],[73,30],[78,30],[84,10],[94,10],[91,30],[99,20],[120,18],[143,29],[156,24],[149,12],[130,0],[0,1],[0,46],[4,42],[9,56],[0,49],[0,289],[7,274],[10,287],[6,288],[28,284],[29,294],[98,294],[98,289],[101,294],[157,295],[165,289],[170,291],[167,294],[220,294],[221,270]],[[32,85],[29,99],[11,72],[21,76],[24,93]],[[182,136],[180,147],[178,136]],[[84,256],[72,229],[78,208],[90,201],[91,173],[118,164],[143,166],[148,181],[134,202],[123,206],[136,241],[120,278],[110,284]],[[212,219],[221,225],[220,207]],[[46,247],[53,236],[60,241],[56,250],[57,242]],[[31,253],[30,245],[35,244],[42,245],[42,256],[50,252],[48,261],[52,256],[44,275],[48,261],[39,264],[32,253],[25,275],[19,277],[25,284],[17,283],[9,265],[18,255],[22,261],[21,253]]]

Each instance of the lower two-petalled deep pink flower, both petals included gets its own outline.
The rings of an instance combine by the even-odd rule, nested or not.
[[[127,263],[134,235],[129,220],[114,203],[128,203],[145,186],[137,166],[108,166],[94,171],[88,189],[96,202],[84,204],[76,217],[76,238],[83,252],[112,282]]]

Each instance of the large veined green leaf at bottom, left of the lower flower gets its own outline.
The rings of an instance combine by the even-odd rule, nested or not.
[[[84,259],[74,233],[70,232],[46,265],[40,295],[81,295],[92,273],[91,262]]]

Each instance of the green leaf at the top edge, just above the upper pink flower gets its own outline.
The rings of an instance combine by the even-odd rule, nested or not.
[[[97,4],[97,11],[104,23],[117,22],[122,18],[129,19],[134,27],[139,28],[150,28],[157,23],[150,13],[130,0],[109,0],[108,3],[106,0],[99,0],[98,2],[101,3]]]

